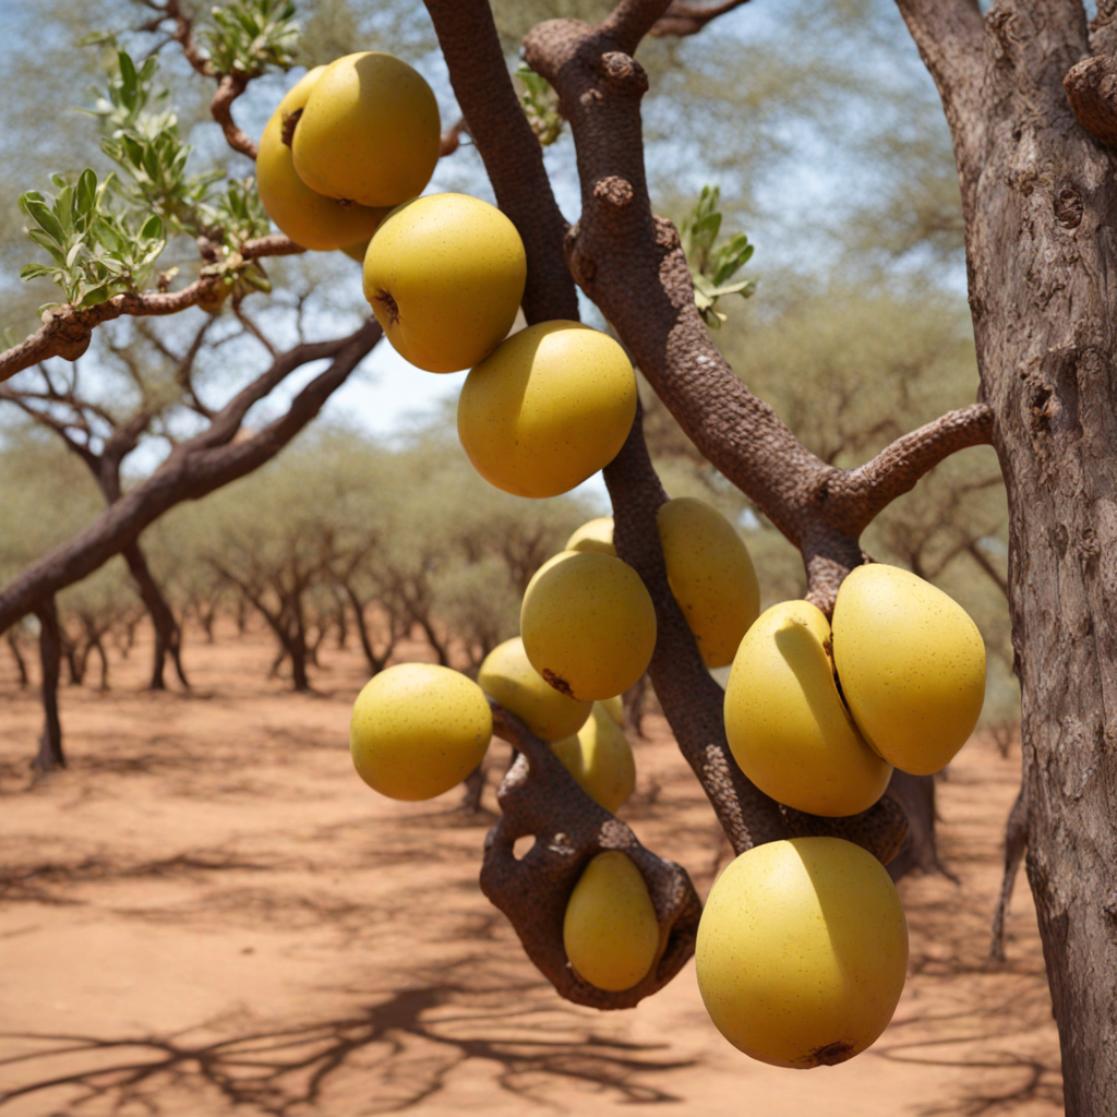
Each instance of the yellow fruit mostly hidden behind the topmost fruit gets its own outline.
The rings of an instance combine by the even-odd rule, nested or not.
[[[268,217],[296,245],[315,251],[331,251],[371,237],[386,209],[343,206],[313,191],[295,172],[290,147],[283,142],[284,121],[299,112],[325,66],[309,70],[279,102],[256,155],[256,189]]]

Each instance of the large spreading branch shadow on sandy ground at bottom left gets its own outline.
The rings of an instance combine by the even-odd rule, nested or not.
[[[547,1089],[565,1082],[649,1105],[680,1098],[642,1081],[645,1075],[694,1066],[655,1058],[660,1044],[595,1031],[584,1015],[556,1008],[537,986],[480,994],[451,984],[404,989],[352,1015],[247,1030],[207,1043],[153,1035],[3,1038],[35,1050],[0,1060],[4,1078],[23,1079],[0,1094],[0,1109],[17,1098],[63,1090],[68,1114],[101,1102],[113,1113],[154,1117],[163,1111],[165,1091],[208,1088],[247,1111],[295,1117],[316,1111],[346,1069],[361,1076],[362,1113],[402,1113],[440,1094],[450,1075],[470,1061],[489,1065],[495,1085],[523,1101],[547,1105]],[[66,1060],[83,1069],[65,1069]]]

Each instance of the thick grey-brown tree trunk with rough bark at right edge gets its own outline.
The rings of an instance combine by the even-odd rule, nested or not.
[[[1071,0],[900,8],[954,136],[1009,496],[1028,877],[1067,1114],[1095,1117],[1117,1111],[1117,183],[1075,87],[1098,29]]]

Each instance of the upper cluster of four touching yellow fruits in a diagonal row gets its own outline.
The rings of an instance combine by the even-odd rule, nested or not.
[[[403,357],[428,372],[471,370],[458,433],[477,471],[517,496],[557,496],[623,445],[636,417],[632,365],[577,322],[508,336],[527,278],[523,241],[477,198],[417,197],[438,153],[438,105],[423,78],[391,55],[346,55],[279,103],[257,185],[297,244],[363,261],[365,297]]]

